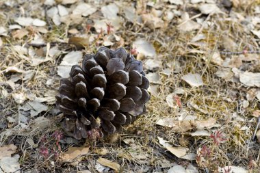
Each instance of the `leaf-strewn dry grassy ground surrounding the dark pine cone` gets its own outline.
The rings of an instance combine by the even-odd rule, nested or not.
[[[142,60],[151,100],[76,140],[55,95],[100,46]],[[0,172],[260,172],[259,46],[259,0],[0,1]]]

